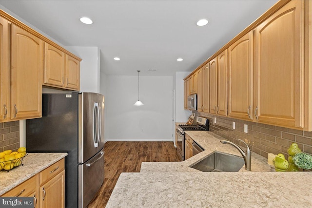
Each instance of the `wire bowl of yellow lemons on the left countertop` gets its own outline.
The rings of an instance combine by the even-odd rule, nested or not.
[[[6,150],[0,152],[0,170],[9,171],[23,165],[22,160],[27,154],[24,147],[20,147],[17,151]]]

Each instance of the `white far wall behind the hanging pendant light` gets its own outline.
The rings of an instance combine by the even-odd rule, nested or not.
[[[173,76],[107,76],[107,141],[173,141]]]

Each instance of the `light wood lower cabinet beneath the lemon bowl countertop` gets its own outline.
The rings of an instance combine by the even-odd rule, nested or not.
[[[64,158],[1,196],[34,197],[36,208],[64,208]]]

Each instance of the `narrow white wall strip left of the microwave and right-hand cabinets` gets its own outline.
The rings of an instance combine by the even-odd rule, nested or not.
[[[184,78],[191,72],[176,72],[176,122],[187,122],[192,111],[184,109]]]

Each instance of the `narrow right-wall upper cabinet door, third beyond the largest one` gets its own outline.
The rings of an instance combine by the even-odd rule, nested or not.
[[[209,89],[209,104],[210,104],[210,113],[216,113],[216,107],[217,107],[217,84],[218,84],[218,57],[215,57],[212,59],[209,69],[209,82],[210,82],[210,89]]]

